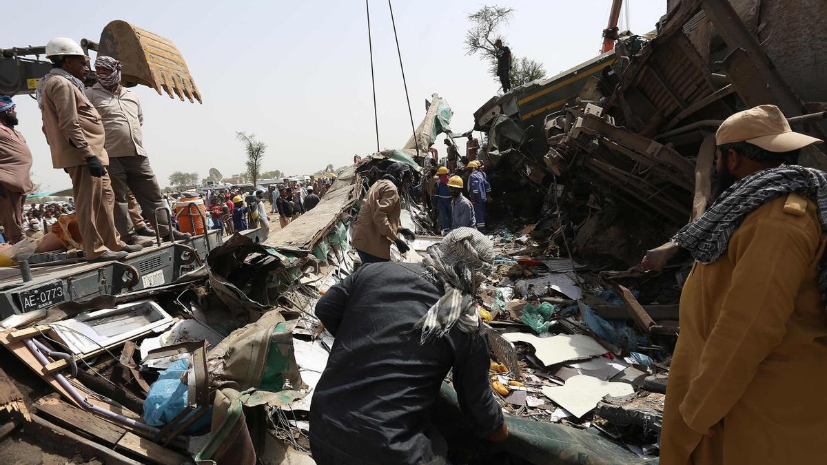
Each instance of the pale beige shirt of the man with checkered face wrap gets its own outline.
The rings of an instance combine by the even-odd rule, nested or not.
[[[144,113],[136,93],[121,87],[116,96],[98,83],[84,90],[84,95],[103,118],[109,156],[146,156],[141,136]]]

